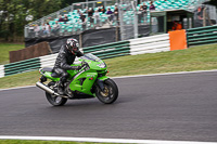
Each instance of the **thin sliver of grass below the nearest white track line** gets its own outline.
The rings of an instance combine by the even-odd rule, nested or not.
[[[100,143],[78,143],[66,141],[27,141],[27,140],[0,140],[0,144],[100,144]],[[112,143],[103,143],[112,144]]]

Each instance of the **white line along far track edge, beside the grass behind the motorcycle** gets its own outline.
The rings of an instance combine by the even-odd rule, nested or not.
[[[217,73],[217,69],[213,70],[196,70],[196,71],[180,71],[180,73],[165,73],[165,74],[151,74],[151,75],[136,75],[136,76],[122,76],[122,77],[111,77],[113,79],[120,79],[120,78],[136,78],[136,77],[153,77],[153,76],[169,76],[169,75],[180,75],[180,74],[197,74],[197,73]],[[9,89],[0,89],[0,91],[5,90],[14,90],[14,89],[23,89],[23,88],[31,88],[36,86],[25,86],[25,87],[16,87],[16,88],[9,88]]]

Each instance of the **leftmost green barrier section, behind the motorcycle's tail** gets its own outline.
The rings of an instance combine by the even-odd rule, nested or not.
[[[40,68],[40,58],[30,58],[4,65],[5,76]]]

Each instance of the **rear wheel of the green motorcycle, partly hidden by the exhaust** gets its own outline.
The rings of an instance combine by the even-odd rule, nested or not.
[[[53,90],[54,84],[55,84],[55,82],[51,81],[48,83],[48,87]],[[47,97],[48,102],[53,106],[62,106],[67,102],[67,99],[52,95],[48,92],[46,92],[46,97]]]

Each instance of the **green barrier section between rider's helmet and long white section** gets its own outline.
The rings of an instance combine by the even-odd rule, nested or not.
[[[116,56],[129,55],[129,41],[119,41],[95,47],[82,48],[84,53],[92,53],[100,58],[111,58]]]

